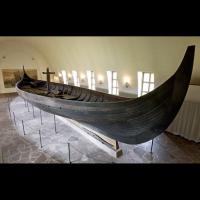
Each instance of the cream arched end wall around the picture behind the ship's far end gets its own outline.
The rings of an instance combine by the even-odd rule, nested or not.
[[[3,58],[5,56],[5,58]],[[33,60],[32,60],[33,59]],[[37,69],[38,78],[45,79],[42,71],[48,66],[46,59],[30,44],[16,40],[0,40],[0,93],[15,92],[15,88],[5,88],[2,69]]]

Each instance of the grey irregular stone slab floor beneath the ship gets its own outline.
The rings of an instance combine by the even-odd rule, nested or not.
[[[41,125],[40,110],[31,104],[25,106],[19,96],[10,97],[9,102],[1,95],[0,163],[69,163],[67,143],[71,163],[200,163],[200,144],[169,133],[154,139],[152,154],[151,141],[139,145],[119,143],[123,155],[113,158],[58,118],[55,133],[52,114],[42,111]]]

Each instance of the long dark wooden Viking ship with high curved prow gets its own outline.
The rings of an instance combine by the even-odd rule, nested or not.
[[[177,115],[189,87],[194,52],[195,46],[188,46],[176,72],[138,98],[34,80],[25,71],[16,90],[41,110],[73,119],[114,140],[139,144],[163,133]]]

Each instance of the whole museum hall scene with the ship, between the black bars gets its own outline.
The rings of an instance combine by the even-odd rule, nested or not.
[[[200,37],[0,36],[0,163],[200,163]]]

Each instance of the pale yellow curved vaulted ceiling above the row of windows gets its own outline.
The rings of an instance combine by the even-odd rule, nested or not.
[[[196,45],[193,81],[200,83],[200,37],[0,37],[36,48],[56,71],[108,69],[121,74],[154,71],[159,81],[177,69],[188,45]],[[136,76],[136,75],[133,75]]]

